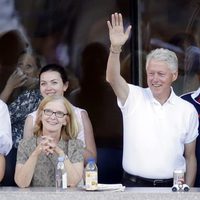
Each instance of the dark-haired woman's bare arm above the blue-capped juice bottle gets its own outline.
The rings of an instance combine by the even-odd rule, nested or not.
[[[97,151],[96,151],[96,144],[94,140],[94,134],[93,134],[93,128],[91,121],[88,117],[87,112],[81,112],[81,118],[83,121],[83,128],[84,128],[84,137],[85,137],[85,150],[84,150],[84,161],[85,164],[87,162],[88,158],[95,158],[97,157]]]

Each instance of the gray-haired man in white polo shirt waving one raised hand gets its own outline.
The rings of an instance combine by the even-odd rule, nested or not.
[[[124,124],[122,183],[135,187],[170,187],[173,171],[185,171],[185,182],[194,185],[196,176],[195,145],[198,114],[171,87],[178,76],[174,52],[155,49],[147,55],[148,88],[128,84],[120,75],[120,52],[127,41],[122,15],[108,21],[111,41],[107,81],[111,84]]]

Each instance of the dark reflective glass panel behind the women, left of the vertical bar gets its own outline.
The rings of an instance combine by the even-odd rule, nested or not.
[[[34,51],[42,65],[57,63],[66,68],[70,79],[66,96],[88,111],[97,145],[121,147],[121,113],[105,80],[110,46],[106,22],[114,12],[121,12],[125,25],[130,24],[130,0],[1,0],[0,90],[16,69],[21,53]],[[129,82],[130,52],[128,42],[121,59],[122,74]],[[8,105],[30,89],[20,84],[14,84],[4,98]],[[78,97],[83,89],[87,95]],[[21,127],[28,110],[23,112]]]

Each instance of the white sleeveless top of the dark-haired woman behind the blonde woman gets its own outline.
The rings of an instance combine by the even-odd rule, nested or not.
[[[82,117],[81,117],[81,112],[86,112],[86,110],[78,108],[78,107],[73,106],[73,105],[72,105],[72,108],[74,110],[74,113],[77,117],[78,124],[79,124],[79,132],[78,132],[77,139],[81,140],[84,144],[84,147],[85,147],[84,127],[83,127],[83,120],[82,120]],[[28,116],[31,116],[33,118],[33,126],[35,125],[35,121],[36,121],[36,113],[37,113],[37,110],[28,114]]]

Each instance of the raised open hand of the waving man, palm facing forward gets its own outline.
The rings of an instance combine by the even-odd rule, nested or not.
[[[129,25],[126,31],[124,31],[123,18],[120,13],[115,13],[111,15],[111,22],[107,21],[109,36],[112,48],[120,49],[122,45],[127,41],[131,26]]]

